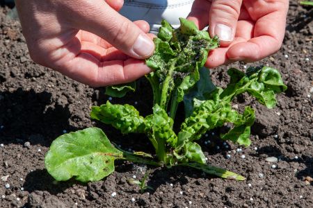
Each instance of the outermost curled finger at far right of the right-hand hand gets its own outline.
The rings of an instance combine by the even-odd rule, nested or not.
[[[232,46],[227,56],[232,60],[257,61],[277,52],[282,45],[286,25],[285,11],[272,12],[255,23],[254,38]]]

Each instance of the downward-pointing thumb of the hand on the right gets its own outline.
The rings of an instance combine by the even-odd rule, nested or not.
[[[209,33],[217,35],[222,46],[234,40],[242,0],[213,0],[209,12]]]

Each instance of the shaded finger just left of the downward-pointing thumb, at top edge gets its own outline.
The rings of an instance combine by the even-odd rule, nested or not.
[[[209,10],[211,8],[211,1],[196,0],[193,2],[191,12],[187,19],[195,23],[200,30],[203,30],[209,24]]]

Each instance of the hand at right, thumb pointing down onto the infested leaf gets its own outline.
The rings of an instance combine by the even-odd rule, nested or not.
[[[188,19],[220,37],[221,47],[211,51],[206,67],[255,62],[278,51],[288,6],[288,0],[195,0]]]

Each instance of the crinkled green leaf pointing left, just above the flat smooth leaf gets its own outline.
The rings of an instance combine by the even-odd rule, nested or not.
[[[143,116],[132,105],[113,105],[109,101],[105,105],[93,106],[90,117],[103,123],[113,125],[122,134],[144,133],[149,126],[145,125]]]

